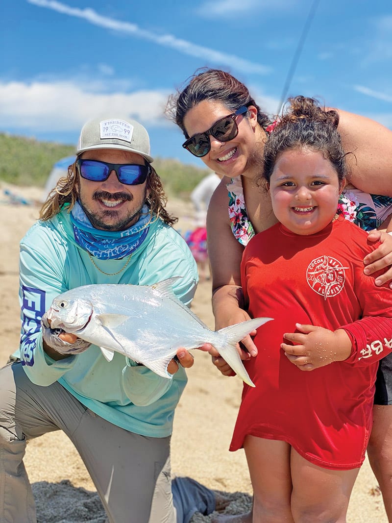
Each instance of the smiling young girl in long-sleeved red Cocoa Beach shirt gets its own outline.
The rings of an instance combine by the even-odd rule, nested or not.
[[[336,214],[346,175],[337,121],[294,98],[264,147],[279,223],[248,243],[241,283],[250,314],[274,321],[246,362],[256,388],[244,387],[230,445],[245,448],[257,523],[345,521],[377,362],[392,347],[392,291],[363,274],[377,245]]]

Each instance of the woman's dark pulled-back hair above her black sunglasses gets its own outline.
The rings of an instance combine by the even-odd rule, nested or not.
[[[198,72],[201,71],[201,72]],[[190,78],[188,85],[169,97],[166,114],[177,123],[186,138],[189,138],[183,121],[187,112],[203,100],[219,100],[233,112],[239,107],[253,105],[257,109],[257,121],[265,128],[269,117],[260,110],[250,96],[248,88],[231,74],[220,69],[199,69]]]

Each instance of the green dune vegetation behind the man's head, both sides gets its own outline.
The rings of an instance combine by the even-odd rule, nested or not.
[[[0,181],[24,187],[43,187],[53,164],[74,153],[74,145],[0,133]],[[199,181],[209,173],[206,168],[167,158],[155,158],[153,165],[163,181],[167,195],[177,198],[187,198]]]

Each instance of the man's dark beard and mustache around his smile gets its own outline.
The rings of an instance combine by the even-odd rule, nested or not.
[[[101,215],[103,219],[100,219],[97,217],[96,213],[93,213],[89,211],[89,209],[85,206],[84,202],[80,199],[80,193],[79,193],[79,204],[80,207],[84,210],[86,213],[87,218],[90,220],[91,225],[95,229],[100,229],[102,231],[124,231],[125,229],[128,229],[131,225],[134,225],[137,220],[139,219],[142,207],[146,201],[147,198],[147,187],[144,189],[144,195],[142,199],[142,203],[139,205],[137,209],[133,209],[132,213],[129,213],[124,218],[119,220],[116,223],[108,224],[105,221],[105,217],[112,219],[117,217],[117,211],[112,210],[108,208],[107,210],[103,210],[101,212]],[[93,195],[93,200],[101,200],[101,199],[107,199],[111,201],[116,200],[125,200],[125,201],[132,201],[133,198],[128,192],[116,192],[114,194],[110,194],[110,192],[106,191],[96,191]]]

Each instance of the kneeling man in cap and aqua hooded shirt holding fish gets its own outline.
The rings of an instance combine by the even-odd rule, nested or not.
[[[176,219],[152,161],[136,121],[87,122],[76,162],[20,243],[20,360],[0,370],[1,523],[36,521],[26,441],[58,429],[86,464],[111,523],[182,523],[215,508],[213,493],[186,478],[173,483],[177,516],[172,503],[170,435],[191,355],[178,351],[169,380],[119,354],[107,362],[97,346],[51,329],[45,314],[68,289],[174,276],[174,292],[190,303],[197,268],[171,228]]]

